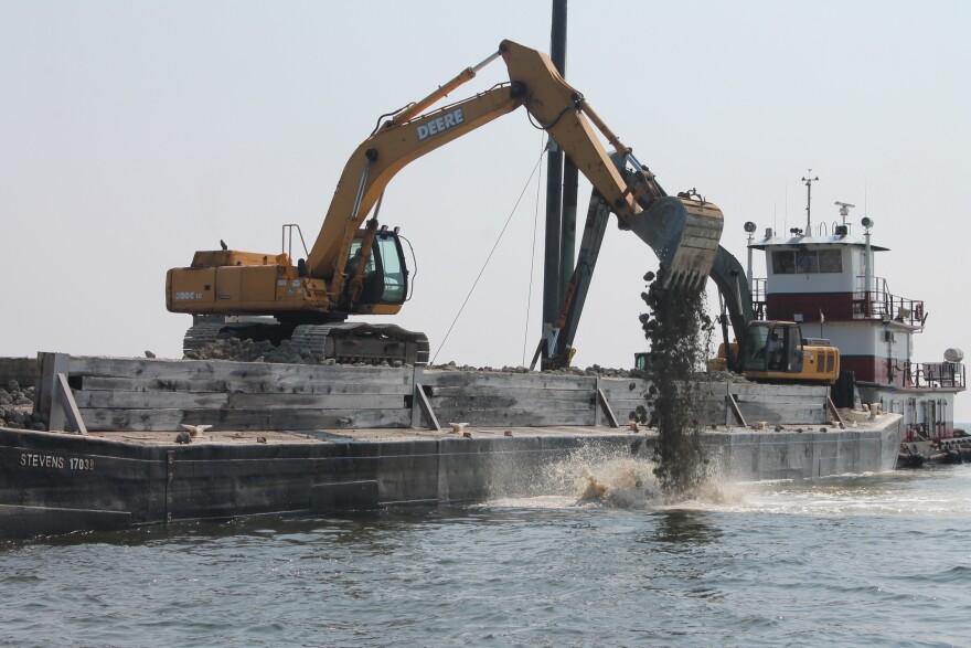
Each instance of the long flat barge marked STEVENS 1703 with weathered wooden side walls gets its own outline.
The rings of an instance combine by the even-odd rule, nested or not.
[[[546,467],[591,449],[650,460],[657,439],[643,425],[651,384],[641,378],[39,362],[38,406],[68,432],[0,428],[4,537],[546,495]],[[894,468],[898,414],[834,413],[824,386],[727,381],[701,392],[718,478]]]

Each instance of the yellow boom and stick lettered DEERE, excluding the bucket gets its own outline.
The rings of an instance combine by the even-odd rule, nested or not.
[[[473,78],[498,56],[502,56],[506,64],[509,84],[419,114]],[[420,102],[394,115],[348,160],[307,262],[312,277],[328,280],[328,294],[332,300],[343,289],[345,265],[355,233],[395,173],[420,156],[519,106],[524,106],[570,157],[618,215],[621,226],[638,227],[641,213],[638,199],[645,192],[649,195],[660,192],[650,171],[637,162],[631,150],[594,113],[583,95],[563,79],[546,54],[506,40],[500,44],[497,54],[462,71]],[[632,171],[625,174],[618,169],[600,144],[597,131],[616,149],[616,155],[631,162]],[[722,231],[721,213],[707,219],[705,225],[711,230],[708,237],[717,245]],[[677,269],[673,268],[673,272],[676,274]],[[705,268],[703,275],[706,274]]]

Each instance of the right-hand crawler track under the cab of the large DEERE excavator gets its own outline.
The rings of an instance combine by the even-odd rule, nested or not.
[[[341,363],[428,363],[428,338],[395,325],[305,325],[294,329],[290,344],[321,360]]]

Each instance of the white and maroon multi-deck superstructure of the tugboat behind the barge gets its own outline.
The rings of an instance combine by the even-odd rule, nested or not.
[[[840,350],[842,372],[851,372],[863,403],[904,416],[905,440],[950,438],[954,434],[954,396],[965,389],[963,353],[945,351],[940,362],[915,362],[914,338],[924,331],[924,301],[890,291],[875,274],[871,242],[873,221],[863,219],[861,240],[846,222],[809,231],[793,227],[779,236],[771,229],[749,238],[765,252],[765,278],[753,281],[758,319],[802,325],[803,337],[828,339]],[[830,229],[832,232],[830,232]],[[749,266],[750,267],[750,266]]]

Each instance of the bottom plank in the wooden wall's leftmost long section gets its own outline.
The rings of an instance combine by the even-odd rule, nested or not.
[[[82,410],[88,431],[179,432],[409,427],[409,410]],[[174,437],[173,437],[174,438]]]

